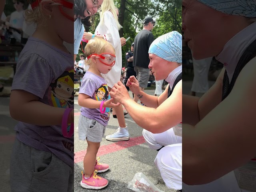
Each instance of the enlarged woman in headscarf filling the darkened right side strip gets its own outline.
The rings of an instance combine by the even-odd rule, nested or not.
[[[255,18],[255,0],[182,1],[193,57],[224,65],[202,98],[182,97],[183,191],[255,191]]]

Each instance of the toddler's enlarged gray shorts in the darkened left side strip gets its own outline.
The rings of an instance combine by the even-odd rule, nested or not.
[[[74,168],[52,152],[15,139],[10,162],[12,192],[74,192]]]

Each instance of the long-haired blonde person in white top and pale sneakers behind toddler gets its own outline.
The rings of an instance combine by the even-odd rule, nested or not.
[[[116,63],[112,67],[112,70],[108,74],[102,74],[108,84],[108,88],[111,90],[115,83],[120,81],[120,75],[122,71],[122,46],[126,44],[125,38],[120,38],[118,30],[122,26],[118,22],[118,10],[114,6],[113,0],[104,0],[101,6],[102,12],[100,12],[100,23],[98,24],[95,34],[86,33],[84,39],[90,40],[95,36],[104,38],[110,42],[116,50]],[[106,136],[106,140],[120,141],[129,140],[129,132],[124,120],[124,111],[122,106],[118,106],[113,109],[113,116],[116,112],[118,118],[119,128],[117,132],[112,135]]]

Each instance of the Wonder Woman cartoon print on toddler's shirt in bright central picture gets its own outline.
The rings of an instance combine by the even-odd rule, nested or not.
[[[108,92],[108,85],[107,84],[103,84],[102,86],[100,86],[100,88],[98,88],[95,91],[95,100],[97,101],[103,101],[103,100],[109,100],[110,99],[110,94]],[[104,120],[109,120],[109,116],[110,116],[110,108],[106,108],[105,113],[108,114],[108,116],[103,116],[100,115],[100,117]]]

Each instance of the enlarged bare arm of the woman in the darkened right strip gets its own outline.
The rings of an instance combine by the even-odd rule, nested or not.
[[[183,124],[184,183],[211,182],[255,156],[255,64],[256,58],[241,71],[229,96],[195,127]]]

